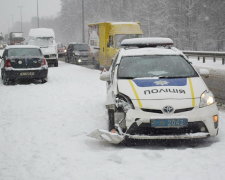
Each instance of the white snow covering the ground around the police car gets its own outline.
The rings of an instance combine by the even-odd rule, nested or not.
[[[197,143],[111,145],[99,71],[60,63],[45,84],[0,84],[0,180],[220,180],[225,112],[218,137]]]

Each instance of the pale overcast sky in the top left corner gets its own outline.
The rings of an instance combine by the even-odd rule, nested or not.
[[[38,0],[40,17],[55,17],[60,12],[60,0]],[[22,6],[23,21],[37,15],[37,0],[0,0],[0,32],[8,32],[12,23],[20,22]]]

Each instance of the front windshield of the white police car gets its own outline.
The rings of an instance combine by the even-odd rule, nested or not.
[[[145,77],[182,78],[196,77],[194,68],[182,56],[132,56],[123,57],[118,67],[119,79]]]

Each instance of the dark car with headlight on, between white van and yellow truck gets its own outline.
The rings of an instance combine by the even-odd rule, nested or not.
[[[70,43],[67,48],[65,61],[74,64],[93,63],[90,58],[90,47],[84,43]]]

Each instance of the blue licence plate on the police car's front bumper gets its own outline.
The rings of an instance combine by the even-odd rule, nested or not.
[[[181,128],[188,125],[188,120],[183,119],[151,119],[154,128]]]

